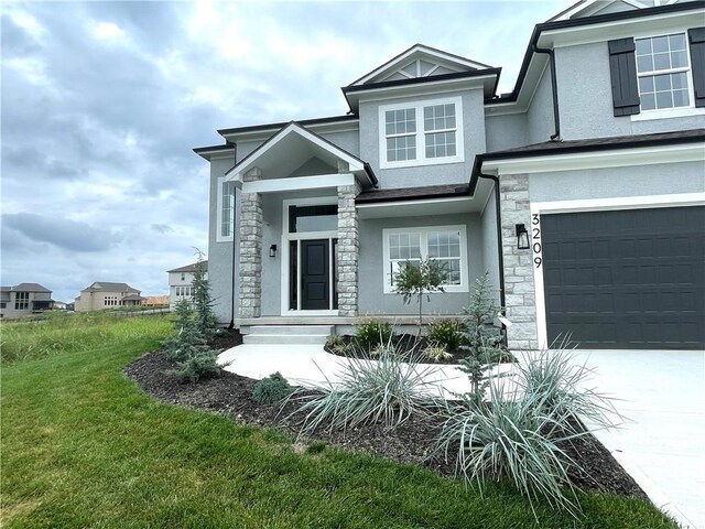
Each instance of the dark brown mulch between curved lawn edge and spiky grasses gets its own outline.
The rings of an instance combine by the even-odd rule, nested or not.
[[[164,402],[224,413],[248,424],[275,427],[292,434],[299,433],[302,417],[292,415],[296,407],[294,402],[280,410],[278,406],[262,406],[252,400],[252,388],[258,380],[224,371],[218,378],[182,384],[164,375],[173,367],[166,354],[159,350],[137,359],[124,373],[144,391]],[[349,450],[366,451],[399,462],[415,463],[449,477],[454,473],[453,464],[442,458],[429,460],[429,449],[433,445],[438,427],[437,420],[412,418],[391,431],[372,424],[347,431],[317,431],[315,435],[302,436],[300,441],[324,441]],[[647,498],[631,476],[593,436],[563,449],[587,471],[571,472],[571,479],[581,489]]]

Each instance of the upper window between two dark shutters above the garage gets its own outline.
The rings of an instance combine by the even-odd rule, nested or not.
[[[641,110],[690,107],[690,60],[685,33],[637,39]]]

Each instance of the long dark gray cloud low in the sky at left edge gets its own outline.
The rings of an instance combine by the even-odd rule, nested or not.
[[[109,230],[67,218],[17,213],[2,215],[2,223],[31,240],[50,242],[72,251],[104,251],[115,244]]]

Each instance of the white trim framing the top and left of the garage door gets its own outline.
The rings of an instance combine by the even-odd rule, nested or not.
[[[531,229],[541,233],[541,215],[558,213],[582,213],[619,209],[648,209],[655,207],[705,206],[705,192],[679,193],[671,195],[621,196],[616,198],[593,198],[586,201],[556,201],[531,203]],[[540,239],[539,239],[540,240]],[[532,260],[543,260],[541,242],[533,245]],[[539,347],[549,347],[546,328],[546,300],[543,288],[543,266],[533,267],[534,295],[536,299],[536,338]]]

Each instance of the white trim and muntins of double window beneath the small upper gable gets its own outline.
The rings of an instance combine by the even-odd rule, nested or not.
[[[426,158],[426,132],[423,128],[423,109],[436,105],[455,105],[455,156]],[[416,112],[416,158],[414,160],[401,160],[389,162],[387,160],[387,120],[389,110],[414,109]],[[443,163],[457,163],[465,161],[464,131],[463,131],[463,98],[446,97],[443,99],[424,99],[420,101],[397,102],[379,107],[379,166],[380,169],[413,168],[417,165],[440,165]],[[435,131],[432,131],[435,132]],[[430,132],[431,133],[431,132]],[[406,136],[406,134],[400,134]],[[411,134],[408,134],[411,136]]]

